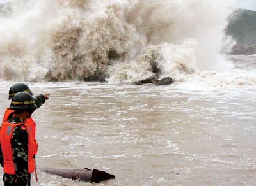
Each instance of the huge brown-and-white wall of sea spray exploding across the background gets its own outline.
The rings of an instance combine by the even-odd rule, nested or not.
[[[135,82],[220,70],[223,1],[31,0],[1,18],[0,76],[6,80]],[[18,5],[17,5],[18,4]],[[228,68],[230,68],[228,66]]]

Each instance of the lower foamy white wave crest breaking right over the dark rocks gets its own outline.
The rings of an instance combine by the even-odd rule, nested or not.
[[[184,78],[184,75],[195,73],[196,57],[195,47],[197,43],[190,39],[182,45],[163,43],[161,45],[148,45],[134,61],[117,62],[109,67],[111,76],[108,82],[123,83],[138,82],[159,73],[159,78],[172,77],[176,81]],[[157,68],[157,70],[154,70]]]

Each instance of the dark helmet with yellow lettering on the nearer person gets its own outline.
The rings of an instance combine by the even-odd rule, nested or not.
[[[22,110],[35,109],[36,104],[28,92],[18,92],[13,96],[10,108]]]

